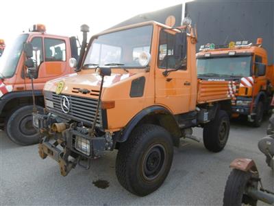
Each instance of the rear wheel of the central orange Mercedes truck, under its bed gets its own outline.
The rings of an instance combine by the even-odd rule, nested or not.
[[[227,144],[229,129],[229,117],[220,110],[211,122],[203,126],[203,145],[211,152],[220,152]]]

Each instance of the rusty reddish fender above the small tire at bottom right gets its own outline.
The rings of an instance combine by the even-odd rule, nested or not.
[[[249,172],[249,170],[252,170],[253,172],[258,172],[258,169],[253,159],[247,158],[234,159],[234,161],[230,163],[229,168],[241,170],[242,172]]]

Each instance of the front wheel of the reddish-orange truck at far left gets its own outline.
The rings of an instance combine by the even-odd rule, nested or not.
[[[37,106],[37,108],[41,113],[42,107]],[[38,144],[39,133],[32,126],[32,111],[32,105],[23,106],[16,109],[8,118],[5,130],[14,143],[22,146]]]

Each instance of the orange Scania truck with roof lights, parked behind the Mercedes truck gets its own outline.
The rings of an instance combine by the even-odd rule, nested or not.
[[[262,124],[269,111],[274,89],[273,65],[267,65],[262,38],[229,45],[202,45],[197,54],[197,73],[201,80],[232,81],[232,117],[247,116],[253,126]],[[234,92],[236,91],[236,92]]]

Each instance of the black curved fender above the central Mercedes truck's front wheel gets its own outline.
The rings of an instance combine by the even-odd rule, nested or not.
[[[176,122],[173,114],[167,109],[164,108],[163,106],[149,106],[148,108],[143,109],[140,111],[137,115],[135,115],[125,126],[119,134],[116,135],[116,141],[117,142],[124,142],[127,141],[129,138],[130,133],[132,133],[132,130],[137,126],[137,124],[144,118],[145,116],[149,114],[164,114],[164,115],[169,115],[173,117],[173,120]],[[177,124],[177,122],[176,122]]]

